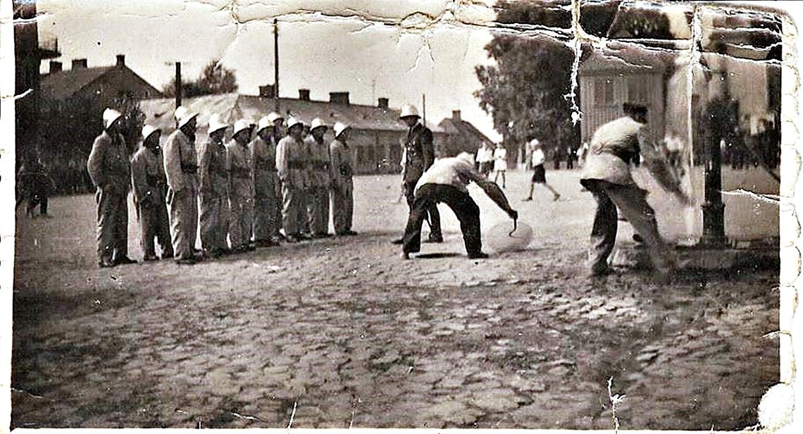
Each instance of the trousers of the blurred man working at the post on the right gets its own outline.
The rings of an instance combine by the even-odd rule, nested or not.
[[[597,213],[591,229],[589,262],[592,272],[605,272],[613,252],[618,231],[618,211],[642,236],[653,267],[660,271],[671,268],[671,251],[658,233],[655,211],[646,201],[646,191],[638,186],[614,184],[600,179],[582,179],[582,186],[597,200]]]

